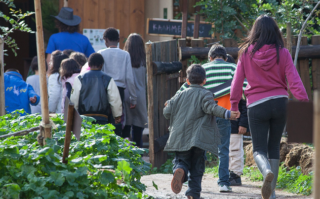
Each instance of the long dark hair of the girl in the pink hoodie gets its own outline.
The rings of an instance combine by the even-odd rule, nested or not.
[[[254,45],[252,51],[249,52],[251,59],[262,46],[274,44],[277,49],[277,63],[279,63],[279,48],[284,48],[284,41],[277,22],[272,17],[263,14],[255,20],[251,31],[240,45],[239,59],[243,53],[248,51],[251,44]]]

